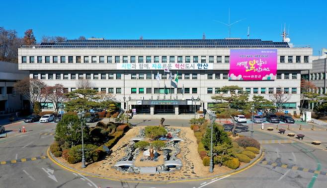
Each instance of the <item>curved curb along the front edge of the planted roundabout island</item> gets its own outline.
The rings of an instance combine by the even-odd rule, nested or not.
[[[191,182],[191,181],[208,180],[208,179],[212,179],[212,178],[222,178],[222,177],[226,177],[226,176],[231,176],[231,175],[234,175],[234,174],[238,174],[238,173],[243,172],[246,169],[254,166],[256,163],[258,163],[259,160],[262,159],[262,157],[264,155],[264,152],[262,151],[262,147],[260,147],[260,153],[250,163],[247,163],[247,165],[241,167],[240,169],[232,170],[232,171],[230,171],[228,173],[218,174],[218,175],[214,175],[214,176],[201,177],[201,178],[187,178],[187,179],[168,180],[168,181],[148,181],[148,180],[138,180],[138,181],[135,181],[135,180],[132,180],[132,179],[113,179],[113,178],[110,178],[110,177],[107,177],[107,176],[101,176],[101,175],[97,175],[97,174],[91,174],[91,173],[83,172],[83,171],[74,169],[72,167],[69,167],[69,166],[61,163],[50,152],[50,147],[47,150],[47,155],[48,155],[48,158],[52,162],[54,162],[55,164],[57,164],[58,166],[66,169],[66,170],[69,170],[71,172],[82,174],[84,176],[90,176],[90,177],[93,177],[93,178],[100,178],[100,179],[112,180],[112,181],[117,181],[117,182],[127,182],[127,183],[140,183],[141,182],[141,183],[145,183],[145,184],[171,184],[171,183],[180,183],[180,182]]]

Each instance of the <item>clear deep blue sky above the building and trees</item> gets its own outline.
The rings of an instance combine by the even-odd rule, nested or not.
[[[291,43],[311,45],[314,55],[327,48],[327,3],[324,0],[1,0],[0,27],[23,36],[76,39],[222,39],[231,37],[281,41],[290,28]],[[5,8],[3,8],[5,7]]]

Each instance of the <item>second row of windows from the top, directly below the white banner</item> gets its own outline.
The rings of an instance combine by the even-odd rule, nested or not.
[[[122,74],[121,73],[100,73],[100,74],[96,74],[96,73],[86,73],[85,75],[83,73],[78,73],[78,74],[68,74],[68,73],[55,73],[55,74],[48,74],[48,78],[46,77],[45,73],[41,73],[40,74],[40,78],[39,78],[39,74],[33,74],[33,78],[34,79],[64,79],[64,80],[68,80],[68,79],[122,79]],[[135,79],[154,79],[156,77],[156,73],[155,74],[151,74],[151,73],[132,73],[130,79],[135,80]],[[161,78],[162,79],[167,79],[167,75],[166,74],[161,74]],[[174,77],[174,76],[173,76]],[[126,78],[126,77],[125,77]],[[277,73],[276,75],[276,79],[297,79],[297,73]],[[128,74],[128,79],[129,79],[129,74]],[[194,73],[178,73],[178,79],[185,79],[185,80],[189,80],[189,79],[193,79],[196,80],[198,79],[198,74]],[[228,79],[228,74],[227,73],[208,73],[207,74],[207,79]]]

